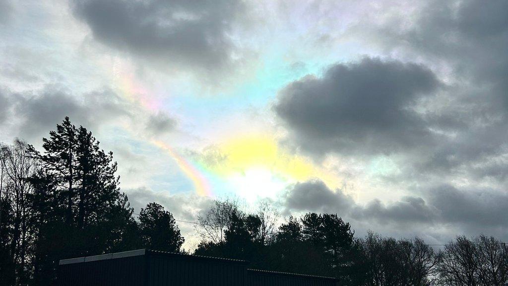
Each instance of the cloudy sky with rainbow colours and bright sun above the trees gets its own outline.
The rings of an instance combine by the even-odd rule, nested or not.
[[[178,220],[236,197],[508,240],[506,51],[505,0],[0,0],[0,141],[69,116]]]

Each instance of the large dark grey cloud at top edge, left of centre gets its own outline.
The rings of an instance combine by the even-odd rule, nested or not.
[[[242,1],[84,0],[74,11],[94,38],[162,64],[217,70],[231,63],[228,36]]]

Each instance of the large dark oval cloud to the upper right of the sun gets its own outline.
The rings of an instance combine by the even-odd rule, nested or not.
[[[292,82],[274,109],[304,149],[390,153],[433,140],[411,107],[439,85],[422,65],[365,58]]]

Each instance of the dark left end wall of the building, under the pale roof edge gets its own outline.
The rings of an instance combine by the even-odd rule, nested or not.
[[[145,286],[145,255],[60,265],[60,286]]]

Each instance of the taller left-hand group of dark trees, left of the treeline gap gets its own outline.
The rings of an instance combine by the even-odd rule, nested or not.
[[[19,139],[0,148],[0,285],[53,285],[63,258],[180,249],[173,216],[151,203],[135,220],[112,153],[69,118],[42,153]]]

